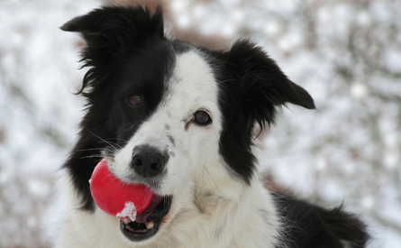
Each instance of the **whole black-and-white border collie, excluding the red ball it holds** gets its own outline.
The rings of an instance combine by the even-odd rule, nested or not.
[[[78,92],[87,109],[63,165],[67,210],[55,247],[366,247],[366,225],[342,207],[263,187],[255,125],[314,100],[255,43],[212,51],[167,38],[161,7],[103,7],[61,30],[87,44]],[[134,222],[91,196],[103,158],[117,178],[155,192]]]

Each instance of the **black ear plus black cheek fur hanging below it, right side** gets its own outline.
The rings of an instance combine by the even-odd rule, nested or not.
[[[254,124],[262,129],[274,123],[277,108],[287,103],[313,109],[314,100],[250,41],[237,41],[219,55],[224,67],[217,72],[223,112],[220,152],[234,174],[249,183],[256,161],[251,151]]]

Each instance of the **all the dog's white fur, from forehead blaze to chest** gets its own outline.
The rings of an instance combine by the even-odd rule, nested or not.
[[[109,161],[117,177],[124,179],[132,173],[130,162],[136,145],[169,149],[174,154],[157,192],[173,195],[158,234],[148,241],[132,243],[121,233],[119,218],[98,207],[94,214],[78,210],[81,199],[68,179],[68,211],[56,247],[275,246],[280,223],[269,192],[257,175],[251,185],[234,179],[218,153],[222,114],[209,64],[196,51],[178,55],[168,85],[168,96],[156,112]],[[186,130],[188,120],[199,109],[212,116],[213,124],[189,124]],[[174,146],[167,133],[175,139]]]

